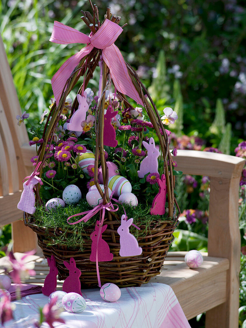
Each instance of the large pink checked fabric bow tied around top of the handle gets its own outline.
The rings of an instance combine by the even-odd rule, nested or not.
[[[124,58],[119,48],[114,44],[122,31],[123,29],[119,25],[105,19],[100,29],[94,35],[89,37],[67,25],[57,21],[54,22],[53,31],[49,41],[59,44],[88,43],[88,45],[82,48],[81,51],[68,58],[51,79],[52,90],[57,106],[67,79],[81,59],[88,55],[94,47],[103,50],[103,60],[109,68],[112,80],[117,90],[126,94],[143,106],[143,101],[128,74]]]

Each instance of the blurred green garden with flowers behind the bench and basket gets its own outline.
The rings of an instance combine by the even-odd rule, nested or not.
[[[124,59],[133,66],[158,110],[172,107],[179,115],[170,143],[177,149],[221,152],[246,157],[246,4],[243,0],[97,1],[100,20],[106,7],[127,23],[118,37]],[[81,32],[88,28],[80,10],[88,1],[2,0],[0,32],[22,111],[39,124],[53,97],[50,80],[79,44],[49,42],[54,20]],[[99,72],[88,85],[94,90]],[[79,87],[79,85],[78,85]],[[74,98],[75,92],[71,92]],[[17,124],[17,122],[16,122]],[[30,128],[27,124],[27,127]],[[239,327],[246,327],[246,170],[239,190],[241,274]],[[172,250],[206,251],[209,178],[177,178],[182,212]],[[1,230],[1,254],[10,228]],[[204,316],[190,321],[203,327]]]

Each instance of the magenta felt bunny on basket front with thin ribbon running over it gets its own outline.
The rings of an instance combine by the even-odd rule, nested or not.
[[[90,255],[90,261],[96,262],[96,254],[98,257],[98,262],[107,262],[112,261],[113,254],[110,253],[109,246],[106,243],[105,240],[102,239],[102,233],[106,230],[107,224],[104,224],[102,227],[101,233],[100,233],[100,221],[97,221],[95,230],[90,235],[90,238],[92,240],[91,244],[91,255]],[[100,233],[100,235],[99,235]],[[99,235],[99,239],[98,239]],[[98,243],[97,243],[98,240]]]

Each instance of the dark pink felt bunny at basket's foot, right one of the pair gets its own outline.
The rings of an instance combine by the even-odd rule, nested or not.
[[[81,294],[81,283],[79,277],[81,271],[76,267],[76,263],[73,257],[70,258],[70,263],[63,261],[66,268],[69,270],[69,276],[64,280],[62,290],[66,293],[77,293]]]

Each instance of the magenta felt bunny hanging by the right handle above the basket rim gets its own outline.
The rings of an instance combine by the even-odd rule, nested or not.
[[[165,214],[165,203],[166,203],[166,177],[165,174],[161,175],[161,179],[157,179],[159,185],[159,192],[155,196],[152,207],[150,210],[151,215],[164,215]]]

